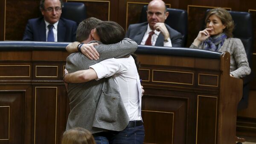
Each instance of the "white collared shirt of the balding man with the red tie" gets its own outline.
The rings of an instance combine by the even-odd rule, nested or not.
[[[153,31],[150,27],[149,27],[149,24],[148,24],[148,28],[147,28],[147,31],[145,32],[144,34],[144,37],[140,43],[140,45],[145,45],[145,42],[146,40],[148,39],[148,35],[149,33]],[[160,34],[160,31],[157,31],[157,30],[154,30],[154,34],[152,35],[152,38],[151,38],[151,44],[152,45],[155,45],[156,42],[157,42],[157,37],[158,35]],[[170,38],[167,39],[168,42],[163,42],[163,46],[168,46],[168,47],[172,47],[172,41]]]

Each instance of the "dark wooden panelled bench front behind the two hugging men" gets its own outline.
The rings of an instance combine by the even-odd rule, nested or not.
[[[67,53],[1,51],[0,56],[0,144],[60,144],[69,113],[62,81]],[[242,81],[229,76],[228,57],[138,54],[145,143],[235,142]]]

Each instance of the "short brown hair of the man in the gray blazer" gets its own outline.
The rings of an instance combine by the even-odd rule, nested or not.
[[[76,29],[76,40],[78,42],[87,40],[90,35],[90,31],[93,28],[95,28],[96,24],[99,22],[102,22],[102,20],[99,20],[95,17],[90,17],[83,20],[81,23],[79,23]]]

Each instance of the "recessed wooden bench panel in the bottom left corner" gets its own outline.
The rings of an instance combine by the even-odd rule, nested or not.
[[[25,90],[0,90],[0,144],[24,144]]]

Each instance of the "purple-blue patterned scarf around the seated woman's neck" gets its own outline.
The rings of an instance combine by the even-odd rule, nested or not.
[[[218,51],[219,48],[223,45],[226,40],[227,35],[225,33],[221,33],[217,36],[209,37],[204,40],[204,50],[209,51]]]

